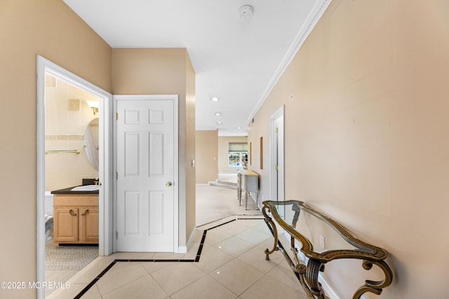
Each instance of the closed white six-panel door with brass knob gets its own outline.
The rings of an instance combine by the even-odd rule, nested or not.
[[[174,251],[174,101],[116,102],[117,251]]]

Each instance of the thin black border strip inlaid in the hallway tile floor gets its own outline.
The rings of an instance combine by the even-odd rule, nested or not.
[[[192,260],[192,259],[141,259],[141,260],[139,260],[139,259],[130,259],[130,258],[123,258],[123,259],[121,259],[121,258],[117,258],[117,259],[115,259],[112,263],[110,263],[106,268],[105,268],[105,270],[103,270],[100,274],[98,274],[94,279],[93,279],[93,281],[91,281],[91,283],[89,283],[85,288],[83,288],[83,290],[81,291],[81,292],[79,292],[78,293],[78,295],[76,295],[75,297],[74,297],[74,299],[79,299],[79,298],[81,298],[85,293],[87,293],[87,291],[89,291],[89,289],[91,289],[92,288],[92,286],[94,286],[99,280],[100,280],[100,278],[102,278],[103,277],[103,275],[105,275],[106,274],[106,272],[108,272],[111,268],[112,268],[112,266],[114,266],[116,263],[134,263],[134,262],[140,262],[140,263],[145,263],[145,262],[154,262],[154,263],[161,263],[161,262],[164,262],[164,263],[170,263],[170,262],[173,262],[173,263],[182,263],[182,262],[189,262],[189,263],[198,263],[199,262],[199,258],[200,258],[200,256],[201,256],[201,251],[203,250],[203,245],[204,245],[204,242],[206,242],[206,234],[207,234],[207,232],[208,232],[208,230],[213,230],[214,228],[218,228],[218,227],[220,227],[220,226],[222,226],[222,225],[225,225],[225,224],[228,224],[228,223],[231,223],[231,222],[233,222],[233,221],[236,221],[236,220],[263,220],[264,218],[235,218],[235,219],[232,219],[232,220],[230,220],[230,221],[227,221],[227,222],[225,222],[225,223],[221,223],[221,224],[219,224],[219,225],[215,225],[215,226],[213,226],[212,228],[208,228],[208,229],[206,229],[206,230],[204,230],[204,232],[203,232],[203,237],[201,237],[201,243],[199,244],[199,249],[198,249],[198,251],[196,252],[196,258],[194,259],[194,260]],[[268,225],[268,224],[267,224]],[[270,228],[270,230],[271,230],[271,228]],[[273,233],[273,232],[272,232]],[[281,245],[282,246],[282,245]]]

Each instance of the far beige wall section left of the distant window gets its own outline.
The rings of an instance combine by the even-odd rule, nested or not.
[[[196,131],[196,183],[218,179],[218,131]]]

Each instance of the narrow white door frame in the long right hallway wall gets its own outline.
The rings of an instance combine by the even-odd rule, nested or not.
[[[276,137],[276,134],[278,134],[276,132],[276,120],[281,117],[284,116],[284,106],[282,105],[281,108],[279,108],[276,112],[274,112],[272,114],[272,116],[269,118],[269,127],[270,127],[270,131],[269,131],[269,144],[270,144],[270,198],[276,198],[277,200],[279,200],[279,193],[278,193],[278,189],[281,188],[281,195],[282,195],[282,200],[285,199],[285,186],[284,186],[284,180],[281,180],[281,186],[278,186],[278,180],[275,179],[278,176],[278,172],[281,172],[282,174],[282,178],[283,178],[283,174],[284,174],[284,144],[281,144],[280,147],[280,151],[282,151],[281,155],[279,155],[278,153],[278,137]],[[283,123],[282,123],[282,127],[284,127]],[[283,134],[283,130],[281,130],[281,133]],[[284,141],[283,137],[282,140]],[[279,157],[281,157],[280,160]],[[277,161],[277,163],[276,163]],[[278,165],[279,171],[276,170],[276,164]]]

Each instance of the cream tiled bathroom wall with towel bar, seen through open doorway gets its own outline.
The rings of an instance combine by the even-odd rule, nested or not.
[[[45,90],[45,149],[78,150],[79,154],[45,155],[45,190],[49,191],[78,186],[83,179],[98,176],[98,170],[92,167],[86,156],[84,132],[91,120],[98,118],[86,101],[98,102],[99,99],[65,81],[51,78],[54,78],[55,85],[46,86]],[[68,102],[73,99],[78,100],[79,109],[69,109]]]

